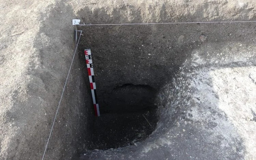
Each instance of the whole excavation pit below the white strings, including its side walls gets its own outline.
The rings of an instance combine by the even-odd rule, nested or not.
[[[98,17],[106,18],[106,24],[112,22],[104,10],[93,14],[81,10],[78,15],[81,22],[88,22],[84,16],[89,16],[92,24],[103,23],[94,21]],[[121,159],[123,155],[124,159],[167,159],[182,148],[193,148],[176,135],[191,139],[194,146],[208,145],[203,141],[208,138],[198,144],[190,137],[194,132],[197,138],[201,135],[194,127],[180,125],[193,116],[186,113],[196,105],[188,102],[195,92],[189,88],[189,75],[195,76],[202,67],[239,66],[233,63],[254,58],[250,50],[255,28],[247,23],[77,26],[77,30],[83,32],[63,97],[65,106],[59,113],[63,116],[58,117],[48,147],[47,154],[52,157],[58,157],[56,146],[60,145],[71,148],[74,159],[75,155],[82,160],[100,156],[102,160]],[[92,52],[100,117],[94,116],[84,49]],[[64,132],[66,128],[68,132]],[[66,151],[62,155],[66,157]],[[219,154],[220,159],[223,156]]]

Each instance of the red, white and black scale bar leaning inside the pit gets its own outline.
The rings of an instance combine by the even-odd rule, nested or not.
[[[95,116],[100,116],[100,109],[99,109],[98,98],[97,98],[97,94],[96,94],[96,84],[95,84],[95,80],[94,80],[91,50],[85,49],[84,55],[85,55],[85,59],[86,59],[88,76],[89,76],[89,80],[90,80],[90,87],[91,87],[91,91],[92,91],[92,101],[93,101]]]

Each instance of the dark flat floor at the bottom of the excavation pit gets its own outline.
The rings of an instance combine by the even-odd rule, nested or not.
[[[134,145],[145,140],[156,128],[155,110],[118,114],[102,114],[93,125],[93,149],[107,150]]]

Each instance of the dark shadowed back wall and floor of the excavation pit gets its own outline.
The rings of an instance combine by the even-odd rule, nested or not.
[[[239,26],[242,28],[242,24]],[[88,149],[120,148],[146,140],[163,114],[158,106],[167,103],[164,86],[174,85],[173,78],[185,62],[194,58],[194,51],[207,52],[208,44],[215,48],[216,42],[234,41],[234,37],[223,35],[230,34],[233,28],[231,34],[241,37],[236,31],[240,27],[230,24],[79,26],[79,30],[84,30],[78,46],[80,67],[84,70],[85,85],[89,86],[83,53],[84,49],[91,49],[101,114],[90,124],[92,138]],[[206,59],[207,63],[211,62]],[[180,95],[178,91],[176,94]],[[87,95],[91,99],[90,89]],[[171,107],[169,118],[175,122],[179,110],[184,108]]]

